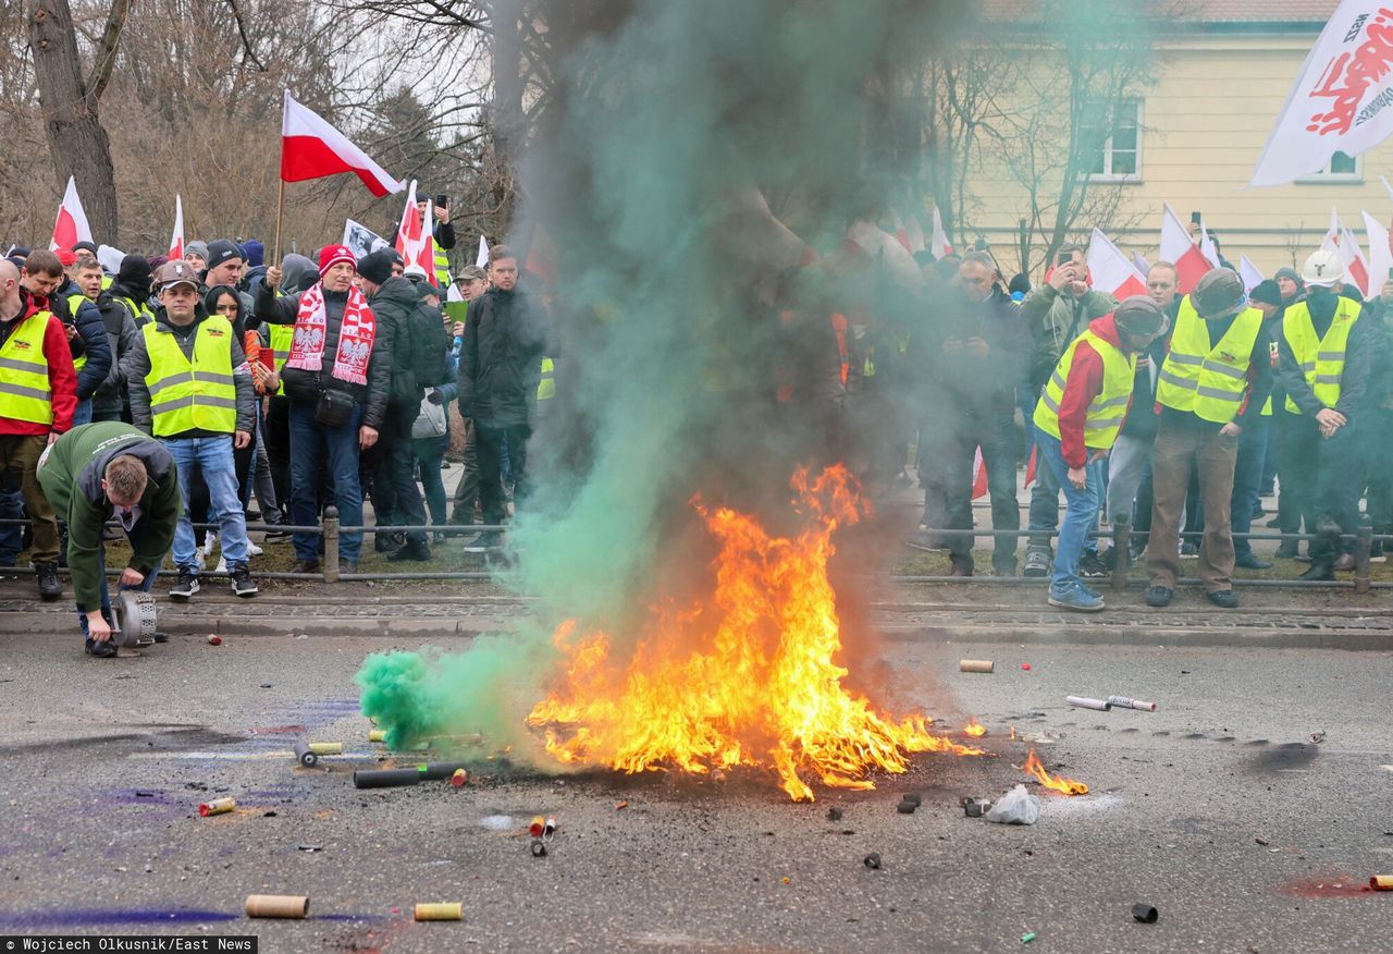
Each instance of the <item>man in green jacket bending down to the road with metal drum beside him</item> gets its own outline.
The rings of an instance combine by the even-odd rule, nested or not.
[[[102,530],[121,524],[131,562],[121,590],[150,591],[180,517],[178,470],[164,445],[130,424],[104,421],[68,431],[39,464],[39,484],[68,524],[68,572],[86,651],[116,656]]]

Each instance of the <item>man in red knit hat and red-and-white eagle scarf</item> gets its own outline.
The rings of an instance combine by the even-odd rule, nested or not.
[[[319,517],[319,474],[327,463],[333,501],[344,526],[362,526],[358,452],[378,442],[387,409],[391,356],[378,347],[378,322],[354,285],[358,265],[347,245],[319,250],[319,282],[276,297],[281,272],[266,269],[255,314],[272,325],[294,325],[281,379],[290,397],[290,516],[311,526]],[[297,533],[297,573],[319,569],[319,536]],[[338,537],[338,568],[358,572],[362,533]]]

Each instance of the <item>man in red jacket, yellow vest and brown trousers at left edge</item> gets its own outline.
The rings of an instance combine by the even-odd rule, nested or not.
[[[59,522],[39,487],[39,456],[72,427],[78,375],[68,336],[47,308],[20,286],[20,271],[0,261],[0,473],[13,473],[33,520],[39,596],[57,600]]]

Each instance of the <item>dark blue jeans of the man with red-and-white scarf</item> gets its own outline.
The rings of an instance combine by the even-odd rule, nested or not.
[[[325,427],[315,420],[315,406],[290,403],[290,522],[299,527],[319,523],[319,471],[329,462],[333,502],[338,522],[362,526],[362,484],[358,481],[358,425],[362,407],[354,407],[343,427]],[[295,559],[319,559],[319,534],[297,533]],[[338,534],[338,559],[358,562],[362,531]]]

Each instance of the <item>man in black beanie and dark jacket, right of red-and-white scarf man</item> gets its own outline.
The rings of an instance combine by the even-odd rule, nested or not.
[[[391,353],[391,385],[387,392],[387,410],[382,444],[382,463],[378,466],[378,476],[373,484],[386,483],[386,490],[391,498],[391,517],[396,526],[425,526],[426,509],[421,501],[421,491],[414,477],[415,471],[415,444],[411,439],[411,425],[415,424],[421,413],[421,399],[425,388],[417,381],[414,371],[414,340],[411,333],[411,317],[417,308],[426,307],[421,301],[418,289],[411,280],[393,276],[391,265],[396,252],[390,248],[379,248],[369,252],[358,262],[358,285],[368,296],[372,314],[378,318],[378,333],[382,335],[379,347],[390,347]],[[439,312],[432,318],[440,324]],[[373,506],[378,497],[373,497]],[[386,515],[378,513],[379,524],[384,523]],[[410,530],[405,533],[405,545],[389,552],[391,561],[426,561],[430,559],[430,547],[426,543],[423,530]]]

